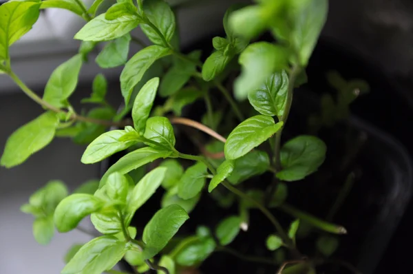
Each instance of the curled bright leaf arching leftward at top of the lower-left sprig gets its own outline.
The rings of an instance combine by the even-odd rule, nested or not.
[[[54,211],[54,224],[60,232],[74,229],[87,215],[103,207],[102,200],[89,194],[72,194],[63,199]]]

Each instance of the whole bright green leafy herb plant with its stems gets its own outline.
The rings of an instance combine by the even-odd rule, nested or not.
[[[288,182],[302,180],[322,165],[326,145],[315,136],[296,136],[284,144],[281,137],[294,88],[306,81],[305,68],[326,21],[328,1],[260,0],[230,8],[223,20],[226,36],[213,39],[215,50],[204,62],[200,51],[180,51],[176,16],[165,1],[118,0],[107,10],[100,8],[102,2],[95,0],[86,7],[81,0],[16,0],[0,6],[0,72],[45,109],[8,138],[1,165],[20,165],[55,137],[88,144],[81,158],[84,164],[123,151],[123,157],[99,181],[86,182],[69,194],[63,182],[54,180],[21,207],[34,215],[34,238],[41,244],[52,240],[54,228],[61,233],[81,229],[79,222],[90,215],[101,235],[73,246],[61,273],[120,273],[112,268],[122,259],[135,273],[149,268],[180,273],[185,267],[200,266],[215,251],[274,265],[278,273],[315,273],[324,260],[299,252],[295,235],[300,222],[327,232],[317,240],[317,249],[325,257],[338,245],[331,235],[346,233],[346,229],[295,209],[285,200]],[[86,23],[74,36],[82,41],[78,54],[54,70],[41,97],[14,74],[9,48],[32,28],[45,8],[74,12]],[[151,45],[131,36],[131,30],[138,27]],[[257,41],[264,32],[275,39]],[[107,81],[98,74],[92,94],[82,100],[95,107],[76,112],[70,98],[81,67],[92,61],[89,53],[105,41],[95,61],[102,68],[124,65],[120,91],[125,104],[116,112],[105,101]],[[128,60],[129,43],[138,43],[142,49]],[[241,73],[233,81],[231,96],[227,86],[238,70]],[[154,107],[157,96],[164,98],[163,103]],[[222,105],[221,98],[230,108]],[[200,100],[206,106],[202,123],[181,117],[184,107]],[[200,155],[176,149],[173,125],[182,129],[179,138],[191,128],[209,136],[202,144],[194,131],[189,132]],[[116,129],[107,131],[107,127]],[[265,193],[245,190],[243,182],[263,173],[273,173]],[[160,187],[165,189],[162,208],[138,231],[131,226],[132,218]],[[177,238],[191,211],[207,195],[224,208],[239,204],[239,214],[228,215],[214,231],[199,224],[193,235]],[[293,216],[288,227],[277,220],[275,208]],[[249,257],[229,247],[240,231],[247,231],[251,209],[261,211],[274,228],[262,245],[270,251],[290,251],[289,257],[281,261]]]

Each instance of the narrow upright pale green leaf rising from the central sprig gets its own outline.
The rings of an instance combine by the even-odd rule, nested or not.
[[[134,107],[132,108],[132,118],[134,119],[135,129],[140,135],[145,132],[147,119],[151,113],[158,86],[159,78],[151,78],[151,80],[143,85],[135,98]]]

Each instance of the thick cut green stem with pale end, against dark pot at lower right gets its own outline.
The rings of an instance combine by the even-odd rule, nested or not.
[[[343,226],[337,225],[337,224],[332,224],[330,222],[326,222],[324,220],[321,220],[313,215],[310,215],[304,211],[300,211],[299,209],[295,209],[294,207],[290,206],[289,204],[282,204],[278,209],[281,209],[282,211],[293,215],[295,218],[305,220],[309,224],[312,224],[313,226],[330,232],[330,233],[335,233],[335,234],[346,234],[347,231]]]

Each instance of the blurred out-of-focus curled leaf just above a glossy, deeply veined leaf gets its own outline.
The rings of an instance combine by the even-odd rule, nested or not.
[[[242,74],[234,83],[235,97],[246,98],[248,92],[259,88],[271,74],[288,67],[288,59],[288,49],[281,45],[268,42],[248,45],[238,60]]]

